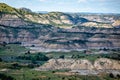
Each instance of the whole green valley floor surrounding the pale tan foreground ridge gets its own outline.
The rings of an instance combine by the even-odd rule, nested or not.
[[[120,50],[104,49],[71,52],[36,52],[19,44],[0,45],[0,80],[120,80],[120,75],[101,73],[99,75],[78,75],[69,73],[68,70],[36,71],[39,67],[52,58],[88,59],[94,62],[105,57],[119,60]],[[112,54],[114,53],[114,55]]]

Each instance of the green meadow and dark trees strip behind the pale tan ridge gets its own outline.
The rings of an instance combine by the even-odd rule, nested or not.
[[[88,59],[94,62],[98,58],[110,58],[120,60],[119,50],[101,50],[91,49],[83,51],[71,51],[71,52],[47,52],[47,53],[34,53],[31,54],[29,49],[26,49],[19,44],[2,44],[0,46],[0,56],[13,56],[20,60],[32,60],[32,61],[47,61],[50,58],[72,58],[72,59]],[[107,51],[107,54],[106,54]],[[105,52],[105,53],[104,53]]]

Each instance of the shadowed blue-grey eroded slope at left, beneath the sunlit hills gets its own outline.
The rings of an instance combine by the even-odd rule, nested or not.
[[[0,26],[0,42],[30,42],[44,36],[56,29],[51,25],[27,23],[20,27]]]

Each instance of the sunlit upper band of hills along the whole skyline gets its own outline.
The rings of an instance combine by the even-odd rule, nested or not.
[[[46,14],[40,14],[32,12],[30,9],[27,8],[16,9],[8,6],[5,3],[0,3],[0,12],[4,14],[14,14],[15,16],[18,16],[25,21],[50,24],[60,28],[71,28],[74,25],[112,28],[114,27],[112,23],[116,20],[120,20],[119,14],[67,14],[62,12],[46,12]]]

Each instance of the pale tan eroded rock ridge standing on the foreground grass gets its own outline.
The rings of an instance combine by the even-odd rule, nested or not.
[[[56,69],[70,69],[70,70],[119,70],[120,63],[116,60],[100,58],[94,63],[88,60],[75,59],[51,59],[43,66],[36,68],[36,70],[56,70]]]

